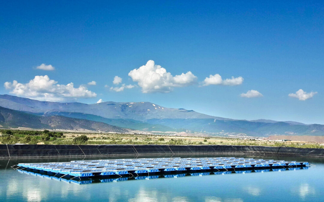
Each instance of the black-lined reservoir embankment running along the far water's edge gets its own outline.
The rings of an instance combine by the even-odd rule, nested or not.
[[[324,157],[324,149],[241,145],[47,145],[1,144],[0,159],[147,155],[258,155]]]

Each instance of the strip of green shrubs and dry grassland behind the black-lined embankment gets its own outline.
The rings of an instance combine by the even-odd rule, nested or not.
[[[120,133],[75,133],[0,130],[0,144],[168,144],[168,145],[249,145],[249,146],[287,146],[299,148],[322,148],[315,143],[270,142],[260,140],[242,140],[226,137],[185,137]]]

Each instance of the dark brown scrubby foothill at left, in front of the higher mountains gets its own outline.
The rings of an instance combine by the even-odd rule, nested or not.
[[[51,129],[54,127],[55,129],[63,130],[88,130],[114,133],[128,133],[131,131],[103,122],[67,118],[64,116],[36,116],[3,107],[0,107],[0,127],[28,127],[35,129]]]

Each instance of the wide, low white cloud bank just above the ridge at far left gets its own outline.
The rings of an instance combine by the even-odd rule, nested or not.
[[[28,97],[37,100],[44,101],[64,101],[68,98],[93,98],[97,94],[87,90],[85,86],[79,86],[74,88],[74,84],[71,82],[67,85],[57,84],[57,81],[50,80],[45,76],[35,76],[34,79],[28,83],[18,83],[16,80],[11,82],[5,82],[6,90],[11,90],[10,93]]]

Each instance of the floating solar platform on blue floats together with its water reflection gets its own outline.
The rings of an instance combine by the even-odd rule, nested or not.
[[[87,160],[60,163],[20,163],[14,169],[26,173],[53,176],[67,180],[91,181],[93,178],[109,181],[109,178],[126,180],[163,175],[181,177],[185,175],[227,174],[226,172],[280,171],[290,168],[308,168],[308,162],[263,160],[253,158],[140,158]],[[225,172],[225,173],[224,173]],[[198,173],[198,174],[197,174]],[[208,174],[207,174],[208,173]],[[87,184],[87,183],[83,183]]]

